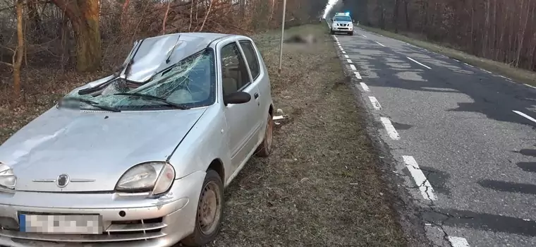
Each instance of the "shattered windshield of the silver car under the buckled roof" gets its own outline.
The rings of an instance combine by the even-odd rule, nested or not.
[[[145,84],[116,78],[96,92],[74,90],[63,102],[68,99],[71,106],[80,109],[188,109],[214,103],[214,88],[214,52],[205,49],[157,73]]]

